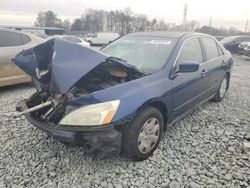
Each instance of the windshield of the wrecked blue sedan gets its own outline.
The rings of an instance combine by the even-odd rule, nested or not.
[[[177,39],[123,37],[101,51],[126,61],[144,74],[160,70],[170,56]]]

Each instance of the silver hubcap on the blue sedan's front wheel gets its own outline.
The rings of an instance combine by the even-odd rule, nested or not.
[[[148,119],[142,126],[138,135],[137,146],[145,154],[154,148],[160,136],[160,123],[156,118]]]

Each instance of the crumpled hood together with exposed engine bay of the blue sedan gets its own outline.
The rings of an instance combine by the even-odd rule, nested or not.
[[[20,115],[55,124],[74,110],[71,100],[144,76],[122,59],[60,40],[23,51],[12,61],[33,77],[37,89]]]

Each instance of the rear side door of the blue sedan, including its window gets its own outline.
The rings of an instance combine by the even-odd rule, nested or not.
[[[212,95],[217,91],[225,74],[226,59],[223,51],[214,39],[202,37],[201,41],[206,54],[205,63],[208,69],[208,94]]]

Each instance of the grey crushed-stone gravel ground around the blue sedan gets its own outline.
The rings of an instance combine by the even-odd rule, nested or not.
[[[34,88],[0,88],[0,187],[250,187],[250,62],[231,87],[171,127],[148,160],[94,159],[14,118]]]

